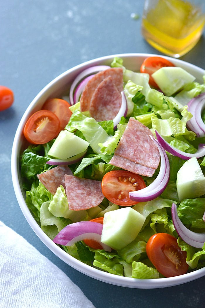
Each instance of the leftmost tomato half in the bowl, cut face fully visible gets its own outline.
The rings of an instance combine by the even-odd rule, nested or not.
[[[58,117],[49,110],[39,110],[27,120],[24,136],[32,144],[44,144],[55,138],[60,132]]]

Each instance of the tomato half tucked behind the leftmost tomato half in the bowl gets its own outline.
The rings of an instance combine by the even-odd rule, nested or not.
[[[70,111],[69,107],[70,104],[66,102],[66,100],[51,98],[46,100],[42,109],[53,111],[60,120],[61,130],[63,130],[68,124],[68,121],[72,115],[72,112]]]

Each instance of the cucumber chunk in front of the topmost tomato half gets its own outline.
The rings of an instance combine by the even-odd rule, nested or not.
[[[193,75],[176,66],[161,67],[152,74],[152,77],[166,96],[175,94],[195,80]]]

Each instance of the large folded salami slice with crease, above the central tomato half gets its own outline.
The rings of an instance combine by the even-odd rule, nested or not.
[[[138,164],[137,174],[152,176],[159,166],[160,153],[150,135],[152,135],[152,132],[149,128],[136,119],[130,118],[109,164],[136,173],[136,165],[131,163],[134,162]],[[121,162],[119,162],[120,157]],[[125,165],[124,159],[126,159]],[[133,166],[135,166],[134,170],[132,169]]]

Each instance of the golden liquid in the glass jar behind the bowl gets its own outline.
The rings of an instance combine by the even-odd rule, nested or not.
[[[142,19],[142,34],[157,50],[180,57],[199,41],[205,23],[201,9],[183,0],[159,0]]]

